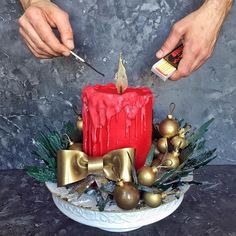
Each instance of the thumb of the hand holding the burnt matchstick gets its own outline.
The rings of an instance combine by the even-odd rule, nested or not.
[[[65,12],[56,14],[54,18],[56,27],[61,35],[62,43],[70,50],[74,49],[73,31],[69,21],[69,15]]]

